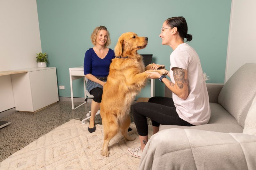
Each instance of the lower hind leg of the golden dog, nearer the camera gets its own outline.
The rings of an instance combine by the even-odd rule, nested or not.
[[[104,142],[102,146],[101,155],[108,157],[109,155],[108,144],[110,140],[117,134],[118,126],[114,122],[107,122],[107,125],[103,124],[103,128],[104,128]]]

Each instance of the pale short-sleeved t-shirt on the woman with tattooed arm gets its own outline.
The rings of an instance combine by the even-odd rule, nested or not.
[[[187,43],[180,44],[170,55],[170,77],[173,78],[173,67],[183,68],[188,72],[188,97],[181,99],[172,93],[172,99],[179,117],[190,124],[207,124],[211,110],[209,96],[204,80],[201,63],[196,51]]]

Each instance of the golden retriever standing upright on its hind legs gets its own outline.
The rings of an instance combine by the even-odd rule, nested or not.
[[[100,104],[100,116],[104,129],[104,143],[102,156],[108,156],[109,141],[121,131],[126,140],[132,141],[128,135],[131,123],[130,109],[136,95],[144,88],[149,74],[145,72],[157,71],[160,74],[168,73],[165,69],[151,70],[154,64],[144,67],[142,56],[137,53],[148,44],[147,37],[138,37],[133,32],[122,34],[115,46],[116,58],[112,60],[109,68],[108,80],[103,88]],[[163,65],[158,65],[164,68]]]

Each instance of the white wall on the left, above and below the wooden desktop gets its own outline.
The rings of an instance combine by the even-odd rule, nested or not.
[[[37,67],[41,40],[36,0],[0,0],[0,71]],[[0,112],[15,107],[11,76],[0,76]]]

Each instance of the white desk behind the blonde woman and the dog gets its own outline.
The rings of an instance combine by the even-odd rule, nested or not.
[[[75,110],[76,108],[82,106],[84,103],[87,102],[87,101],[85,101],[84,103],[82,103],[79,106],[77,106],[76,108],[74,108],[72,81],[76,80],[76,79],[84,78],[84,67],[81,66],[81,67],[69,68],[69,78],[70,78],[72,109]],[[84,99],[86,99],[85,89],[86,89],[86,84],[85,84],[85,79],[84,79]],[[151,82],[150,82],[150,97],[153,97],[153,96],[155,96],[155,79],[151,79]]]

